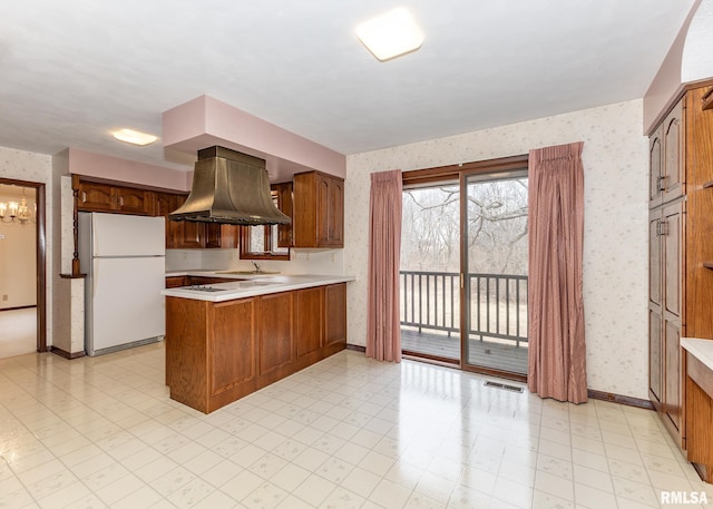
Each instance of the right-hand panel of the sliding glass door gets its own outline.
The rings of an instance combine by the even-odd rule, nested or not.
[[[461,176],[461,364],[527,375],[527,169]]]

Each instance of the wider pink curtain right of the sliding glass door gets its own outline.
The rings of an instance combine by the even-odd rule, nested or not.
[[[584,143],[529,154],[529,372],[543,398],[587,401],[582,251]]]

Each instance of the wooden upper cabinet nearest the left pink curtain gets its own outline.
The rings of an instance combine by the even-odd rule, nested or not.
[[[344,247],[344,179],[307,172],[293,184],[294,247]]]

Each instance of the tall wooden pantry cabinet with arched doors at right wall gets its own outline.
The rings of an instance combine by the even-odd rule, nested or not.
[[[687,89],[649,137],[648,394],[685,449],[681,337],[712,337],[713,111]]]

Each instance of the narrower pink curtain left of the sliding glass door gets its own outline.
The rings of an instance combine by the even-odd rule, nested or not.
[[[401,188],[399,169],[371,174],[367,356],[378,361],[401,361]]]

